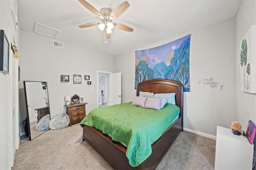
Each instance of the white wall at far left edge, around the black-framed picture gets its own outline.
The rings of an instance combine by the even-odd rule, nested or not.
[[[0,29],[4,30],[8,41],[11,44],[13,36],[15,36],[16,45],[19,49],[19,33],[15,31],[14,23],[11,14],[11,3],[12,1],[0,0]],[[16,65],[18,69],[18,60]],[[12,160],[12,111],[9,109],[12,106],[11,95],[10,95],[10,78],[12,77],[12,53],[9,55],[9,74],[3,74],[0,72],[0,169],[10,169]],[[16,106],[18,107],[18,106]],[[17,115],[18,116],[18,115]]]

